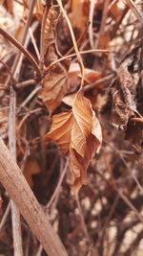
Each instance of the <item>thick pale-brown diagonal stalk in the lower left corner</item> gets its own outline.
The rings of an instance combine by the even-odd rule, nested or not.
[[[48,255],[67,256],[64,245],[52,230],[51,223],[47,220],[24,175],[1,138],[0,181]]]

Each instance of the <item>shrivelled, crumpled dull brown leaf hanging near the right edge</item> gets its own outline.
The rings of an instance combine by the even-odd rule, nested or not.
[[[129,120],[137,112],[136,86],[138,79],[130,72],[133,58],[122,61],[118,68],[119,80],[112,83],[110,92],[112,96],[111,121],[115,125],[127,126]],[[138,76],[137,76],[138,77]]]

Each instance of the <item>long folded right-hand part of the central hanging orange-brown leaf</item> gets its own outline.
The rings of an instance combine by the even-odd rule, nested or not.
[[[95,151],[99,151],[102,131],[98,119],[92,110],[91,102],[80,90],[72,106],[73,125],[70,147],[72,166],[72,191],[78,194],[81,186],[87,184],[87,168]]]

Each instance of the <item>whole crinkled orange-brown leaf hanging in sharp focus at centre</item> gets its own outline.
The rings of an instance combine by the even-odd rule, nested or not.
[[[46,142],[51,140],[54,140],[63,152],[70,150],[72,191],[77,195],[82,185],[88,182],[87,168],[102,142],[99,121],[82,89],[75,96],[72,111],[53,118],[51,131],[45,136]]]

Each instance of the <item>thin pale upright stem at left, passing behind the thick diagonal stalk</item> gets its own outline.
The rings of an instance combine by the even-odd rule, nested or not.
[[[31,1],[31,8],[28,16],[28,20],[25,26],[24,34],[21,43],[24,44],[29,32],[29,26],[31,24],[31,17],[33,8],[35,5],[35,0]],[[14,59],[12,65],[12,74],[15,80],[18,81],[19,73],[22,64],[22,54],[18,52],[16,58]],[[11,77],[8,77],[6,81],[6,86],[9,85]],[[16,160],[16,92],[13,87],[10,86],[10,116],[9,116],[9,147],[10,153],[13,158]],[[20,223],[20,213],[16,205],[13,201],[11,201],[11,221],[12,221],[12,236],[13,236],[13,247],[14,247],[14,256],[23,256],[23,248],[22,248],[22,234],[21,234],[21,223]]]

